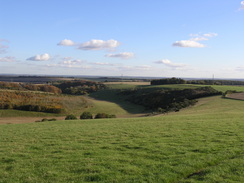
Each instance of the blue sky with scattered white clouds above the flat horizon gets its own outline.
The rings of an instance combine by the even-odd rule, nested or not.
[[[0,6],[0,74],[244,78],[241,0]]]

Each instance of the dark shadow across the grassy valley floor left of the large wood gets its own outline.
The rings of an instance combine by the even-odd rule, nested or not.
[[[105,89],[89,94],[89,97],[96,100],[113,102],[119,105],[121,108],[126,110],[130,114],[140,114],[148,113],[150,111],[146,110],[143,106],[133,104],[126,101],[126,96],[118,94],[118,90],[115,89]]]

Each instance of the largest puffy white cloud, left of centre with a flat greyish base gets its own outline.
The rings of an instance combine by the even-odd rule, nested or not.
[[[81,50],[102,50],[102,49],[113,49],[120,45],[120,42],[116,40],[96,40],[93,39],[91,41],[81,43],[78,47],[78,49]]]

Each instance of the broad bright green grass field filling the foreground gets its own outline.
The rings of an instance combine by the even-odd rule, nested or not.
[[[244,182],[244,102],[157,117],[0,126],[0,182]]]

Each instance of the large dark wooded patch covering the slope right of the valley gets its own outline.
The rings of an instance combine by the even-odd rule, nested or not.
[[[127,100],[142,105],[153,111],[179,111],[182,108],[194,105],[197,98],[221,95],[222,93],[211,88],[201,87],[196,89],[184,90],[154,90],[147,91],[137,89],[120,92],[122,95],[128,96]]]

